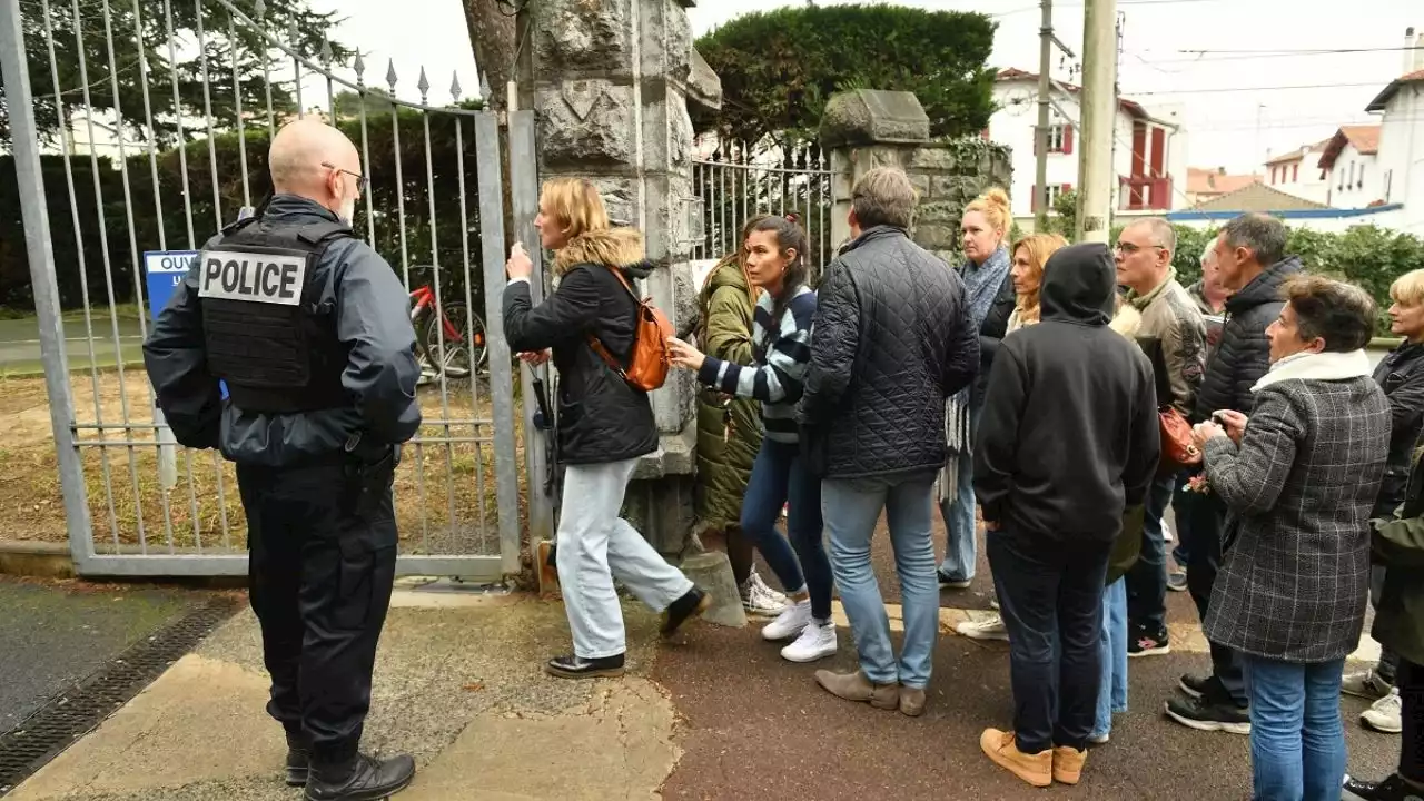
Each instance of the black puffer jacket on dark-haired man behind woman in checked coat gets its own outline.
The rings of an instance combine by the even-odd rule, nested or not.
[[[1250,413],[1250,388],[1270,369],[1266,326],[1280,316],[1280,308],[1286,305],[1280,298],[1280,285],[1302,269],[1300,258],[1286,257],[1226,299],[1226,325],[1206,362],[1193,422],[1205,420],[1220,409]]]

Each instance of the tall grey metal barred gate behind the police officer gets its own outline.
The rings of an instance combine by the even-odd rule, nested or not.
[[[424,425],[396,476],[399,570],[477,580],[520,572],[525,415],[515,413],[500,321],[506,210],[500,120],[478,103],[488,90],[471,101],[456,80],[449,103],[433,101],[422,70],[420,103],[397,100],[393,66],[386,88],[373,88],[360,56],[308,23],[290,11],[275,19],[263,0],[0,0],[46,389],[81,574],[246,570],[232,465],[172,440],[140,348],[187,259],[269,192],[272,134],[309,114],[362,151],[367,185],[353,222],[410,291],[422,343]],[[528,205],[533,114],[511,114],[508,135],[515,198]]]

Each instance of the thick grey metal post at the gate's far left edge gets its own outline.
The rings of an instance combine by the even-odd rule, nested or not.
[[[44,14],[46,30],[51,31],[47,4]],[[75,24],[78,23],[75,21]],[[50,36],[53,58],[53,31]],[[84,573],[94,554],[94,534],[90,527],[88,499],[84,487],[84,465],[74,445],[74,432],[70,429],[70,423],[74,420],[74,398],[70,389],[68,362],[64,358],[64,322],[60,316],[60,286],[54,272],[54,247],[50,241],[50,218],[44,200],[40,137],[34,120],[34,98],[30,94],[30,71],[24,58],[20,0],[0,0],[0,77],[4,78],[6,86],[6,105],[13,137],[11,153],[20,191],[20,215],[24,222],[26,255],[30,261],[30,279],[34,288],[34,311],[40,325],[44,389],[50,399],[50,428],[54,432],[54,450],[60,466],[60,487],[64,495],[64,523],[70,537],[70,552],[74,556],[75,569]],[[58,115],[63,125],[67,117],[63,104],[58,107]],[[66,165],[67,161],[66,157]],[[83,251],[83,245],[80,249]]]

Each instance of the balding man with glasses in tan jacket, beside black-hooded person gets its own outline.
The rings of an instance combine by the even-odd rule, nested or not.
[[[1190,418],[1206,368],[1206,325],[1192,296],[1176,281],[1176,232],[1159,217],[1138,219],[1118,235],[1118,284],[1142,315],[1138,345],[1152,362],[1158,408]],[[1166,634],[1166,543],[1162,517],[1176,473],[1158,475],[1148,487],[1142,554],[1128,572],[1128,656],[1169,653]]]

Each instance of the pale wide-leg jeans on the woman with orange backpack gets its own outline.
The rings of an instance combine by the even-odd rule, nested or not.
[[[654,611],[692,589],[628,520],[622,509],[637,459],[568,465],[558,520],[558,583],[564,593],[574,654],[600,658],[627,650],[614,576]]]

